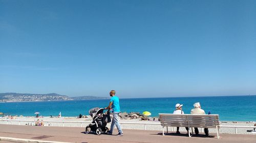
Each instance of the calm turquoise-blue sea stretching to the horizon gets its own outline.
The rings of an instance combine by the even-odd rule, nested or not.
[[[256,96],[222,97],[176,97],[176,98],[136,98],[120,99],[121,111],[150,111],[152,117],[158,113],[173,113],[176,103],[183,105],[185,113],[190,113],[195,102],[200,102],[206,113],[219,114],[221,121],[256,121]],[[89,115],[93,107],[106,107],[109,100],[49,101],[49,102],[12,102],[0,103],[0,112],[10,115],[34,116],[39,111],[42,116]]]

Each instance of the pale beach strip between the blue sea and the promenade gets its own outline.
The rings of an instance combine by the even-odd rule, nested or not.
[[[0,118],[0,124],[7,124],[7,121],[1,121],[7,119],[7,117],[2,117]],[[13,121],[13,120],[28,120],[28,121],[37,121],[38,118],[35,117],[16,117],[16,119],[12,119],[11,122],[8,122],[8,124],[12,124],[12,125],[34,125],[35,122],[17,122],[17,121]],[[76,117],[61,117],[61,118],[50,118],[50,117],[43,117],[43,118],[39,118],[40,122],[44,122],[45,124],[51,125],[51,126],[63,126],[62,121],[92,121],[92,118],[76,118]],[[60,121],[58,123],[54,123],[54,122],[50,122],[47,123],[45,121]],[[132,120],[120,120],[120,122],[131,122],[131,123],[160,123],[158,121],[140,121],[140,119],[132,119]],[[89,123],[65,123],[64,126],[65,127],[86,127]],[[255,123],[247,123],[247,122],[231,122],[231,121],[222,121],[221,125],[225,125],[225,126],[254,126]],[[107,125],[108,127],[110,127],[110,124]],[[122,124],[122,128],[123,129],[139,129],[139,130],[144,130],[144,125],[138,125],[138,124]],[[146,125],[146,130],[157,130],[157,131],[161,131],[162,130],[162,126],[161,125]],[[169,131],[171,129],[169,128]],[[173,131],[176,131],[176,128],[172,129]],[[239,134],[255,134],[256,133],[251,133],[251,132],[247,132],[247,130],[253,130],[253,128],[237,128],[237,132]],[[180,128],[180,131],[186,131],[185,128]],[[201,129],[199,129],[199,131],[201,132]],[[210,133],[215,133],[216,129],[209,129]],[[221,133],[235,133],[235,129],[234,128],[221,128],[220,129]]]

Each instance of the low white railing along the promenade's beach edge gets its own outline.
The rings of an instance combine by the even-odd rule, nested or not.
[[[12,122],[18,122],[18,125],[20,125],[20,122],[32,122],[32,123],[36,123],[36,121],[33,120],[10,120],[10,119],[4,119],[4,120],[0,120],[1,121],[6,121],[7,124],[10,123],[10,125],[12,125]],[[46,124],[46,126],[52,126],[52,123],[62,123],[62,127],[65,127],[65,123],[80,123],[80,127],[82,127],[82,123],[91,123],[90,121],[44,121]],[[120,126],[122,128],[123,124],[137,124],[137,125],[144,125],[144,130],[146,130],[146,125],[161,125],[161,123],[147,123],[147,122],[119,122]],[[34,124],[33,124],[34,125]],[[235,133],[237,134],[237,128],[256,128],[256,126],[224,126],[224,125],[220,125],[221,128],[234,128]],[[201,131],[203,132],[202,128]]]

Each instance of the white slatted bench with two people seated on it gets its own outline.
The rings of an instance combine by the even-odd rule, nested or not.
[[[190,128],[216,128],[217,138],[220,137],[220,120],[219,115],[191,115],[191,114],[168,114],[159,113],[159,120],[168,133],[168,127],[188,127],[188,136]],[[193,132],[193,129],[192,129]]]

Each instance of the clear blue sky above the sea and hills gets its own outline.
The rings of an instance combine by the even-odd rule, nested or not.
[[[256,1],[0,1],[0,92],[256,94]]]

